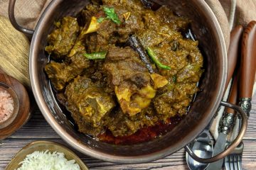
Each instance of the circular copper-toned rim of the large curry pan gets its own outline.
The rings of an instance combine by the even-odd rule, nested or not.
[[[216,95],[216,100],[212,104],[213,107],[211,108],[211,113],[208,114],[203,122],[203,124],[200,127],[196,127],[193,130],[193,134],[189,133],[184,137],[183,140],[189,140],[191,142],[199,133],[203,130],[202,127],[206,127],[208,123],[210,123],[211,118],[213,118],[213,115],[215,111],[217,111],[217,108],[220,104],[220,101],[222,99],[222,95],[224,92],[224,86],[225,86],[225,77],[227,74],[227,52],[226,52],[226,47],[225,47],[225,39],[223,36],[223,32],[220,28],[220,24],[218,23],[217,18],[215,17],[213,11],[211,8],[206,4],[206,1],[203,0],[193,0],[195,4],[197,4],[198,7],[203,8],[205,15],[209,17],[212,20],[211,25],[213,26],[213,31],[214,35],[216,37],[216,40],[219,45],[218,50],[219,54],[222,56],[223,62],[220,65],[220,67],[223,68],[223,70],[220,72],[220,85],[219,85],[219,91],[218,95]],[[175,148],[167,147],[166,149],[162,149],[158,152],[154,152],[151,154],[143,154],[139,156],[119,156],[119,155],[113,155],[113,154],[107,154],[104,152],[100,152],[96,149],[93,149],[91,147],[88,147],[86,145],[83,145],[82,142],[78,142],[78,140],[75,140],[68,132],[65,132],[65,130],[61,127],[60,124],[55,120],[54,116],[50,113],[50,110],[46,104],[46,101],[43,98],[43,94],[41,93],[41,88],[39,86],[40,82],[38,81],[38,70],[36,69],[36,47],[40,45],[38,42],[38,36],[37,33],[42,33],[43,32],[43,24],[46,21],[47,17],[47,11],[53,11],[55,6],[58,6],[58,3],[60,0],[55,0],[51,1],[50,4],[46,7],[46,10],[43,12],[41,18],[38,21],[38,24],[36,26],[35,33],[33,35],[33,38],[31,40],[31,49],[30,49],[30,54],[29,54],[29,74],[30,74],[30,79],[31,79],[31,87],[33,90],[33,94],[36,98],[36,103],[38,103],[38,107],[40,108],[41,112],[43,113],[44,118],[46,118],[46,121],[50,124],[50,126],[55,130],[55,132],[60,135],[60,137],[68,143],[71,147],[77,149],[78,151],[82,152],[83,154],[87,154],[90,157],[95,157],[97,159],[102,159],[107,162],[114,162],[114,163],[121,163],[121,164],[137,164],[137,163],[144,163],[144,162],[151,162],[156,159],[160,159],[162,157],[166,157],[172,152],[177,152],[178,149],[181,149],[182,147],[185,147],[185,143],[179,144],[174,146]]]

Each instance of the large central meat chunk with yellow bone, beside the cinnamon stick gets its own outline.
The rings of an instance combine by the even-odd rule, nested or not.
[[[149,74],[139,55],[130,47],[110,47],[104,68],[122,111],[129,115],[148,107],[156,96],[156,89],[168,82],[159,74]]]

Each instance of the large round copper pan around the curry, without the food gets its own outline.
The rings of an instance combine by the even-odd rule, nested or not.
[[[11,0],[10,6],[14,6],[14,3],[15,0]],[[23,33],[33,33],[29,57],[31,86],[36,102],[48,123],[70,146],[107,162],[150,162],[173,154],[188,145],[213,118],[225,87],[226,48],[223,33],[213,11],[203,0],[159,1],[159,4],[169,6],[171,10],[193,21],[192,30],[203,49],[205,72],[200,83],[200,89],[203,91],[196,96],[186,118],[166,135],[136,145],[111,145],[82,135],[73,128],[58,106],[49,80],[43,72],[48,62],[44,47],[47,45],[47,35],[53,30],[54,21],[58,21],[63,16],[75,16],[87,3],[88,1],[80,0],[51,1],[34,31],[21,28],[14,22],[14,16],[10,17],[14,27]]]

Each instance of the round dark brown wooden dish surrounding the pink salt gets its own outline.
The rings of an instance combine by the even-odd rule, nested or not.
[[[30,118],[30,101],[25,87],[13,77],[0,74],[0,87],[14,99],[14,112],[8,120],[0,123],[0,140],[12,135]]]

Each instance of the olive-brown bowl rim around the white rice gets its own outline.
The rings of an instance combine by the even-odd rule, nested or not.
[[[23,147],[16,156],[11,159],[11,162],[6,166],[5,170],[14,170],[17,169],[19,166],[18,163],[23,161],[28,154],[32,154],[35,151],[46,151],[49,150],[50,152],[62,152],[65,154],[65,158],[68,160],[74,159],[75,163],[80,166],[81,170],[88,170],[87,166],[82,162],[82,160],[70,149],[64,147],[55,142],[48,142],[48,141],[36,141],[31,142],[26,147]]]

